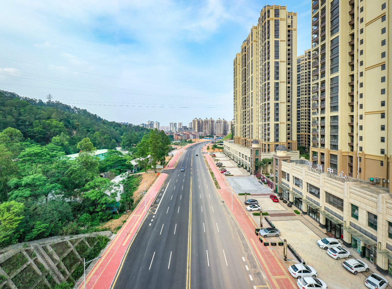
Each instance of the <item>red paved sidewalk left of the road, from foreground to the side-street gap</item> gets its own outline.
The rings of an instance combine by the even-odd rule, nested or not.
[[[147,208],[149,208],[156,199],[167,176],[167,174],[160,174],[152,187],[147,191],[145,196],[147,197]],[[127,222],[122,226],[120,231],[118,231],[109,247],[103,252],[102,258],[96,262],[86,276],[86,287],[89,289],[109,289],[111,287],[123,257],[125,257],[125,252],[147,213],[148,211],[144,212],[144,200],[140,201],[132,212],[132,215],[127,219]],[[78,285],[78,288],[82,289],[84,287],[84,282],[82,281]]]

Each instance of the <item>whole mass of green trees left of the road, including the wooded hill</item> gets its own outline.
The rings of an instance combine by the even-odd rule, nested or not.
[[[129,149],[123,154],[115,148]],[[163,131],[109,122],[84,109],[0,92],[0,246],[87,233],[134,208],[140,177],[123,174],[162,164],[171,148]],[[105,158],[96,149],[109,149]],[[78,153],[71,160],[66,154]],[[116,202],[116,196],[120,201]]]

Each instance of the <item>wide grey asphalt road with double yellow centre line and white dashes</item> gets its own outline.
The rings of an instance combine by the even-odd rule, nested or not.
[[[113,289],[268,288],[214,187],[201,148],[192,145],[176,169],[165,171],[169,176],[127,251]]]

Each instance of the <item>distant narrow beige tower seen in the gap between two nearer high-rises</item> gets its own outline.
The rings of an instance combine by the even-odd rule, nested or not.
[[[310,78],[311,49],[297,57],[297,145],[310,144]]]

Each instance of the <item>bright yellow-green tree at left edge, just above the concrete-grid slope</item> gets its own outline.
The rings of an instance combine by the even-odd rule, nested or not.
[[[7,244],[15,228],[22,221],[24,216],[24,204],[16,201],[9,201],[0,204],[0,244]]]

